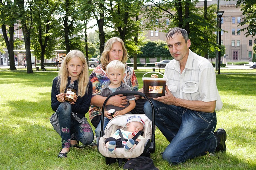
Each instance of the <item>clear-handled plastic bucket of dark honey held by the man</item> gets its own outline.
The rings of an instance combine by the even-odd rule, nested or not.
[[[158,73],[158,72],[148,72],[145,73],[142,77],[143,81],[143,93],[149,98],[157,98],[165,95],[165,85],[167,78],[163,75],[164,78],[158,78],[156,74],[152,74],[151,77],[144,77],[149,73]]]

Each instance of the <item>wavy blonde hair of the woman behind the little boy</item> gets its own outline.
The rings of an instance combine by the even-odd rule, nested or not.
[[[127,53],[127,49],[125,48],[124,41],[121,38],[112,37],[105,43],[104,50],[100,57],[101,67],[103,68],[103,70],[106,70],[106,67],[109,64],[108,53],[111,50],[113,44],[116,42],[119,42],[122,44],[122,49],[124,51],[121,62],[125,64],[128,60],[129,55]]]

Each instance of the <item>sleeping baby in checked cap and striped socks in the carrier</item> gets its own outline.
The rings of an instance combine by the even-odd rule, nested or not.
[[[144,139],[141,135],[134,141],[132,138],[144,129],[144,121],[140,116],[134,115],[127,119],[126,127],[127,131],[121,130],[122,136],[126,141],[122,141],[117,130],[110,138],[107,138],[105,143],[110,153],[114,153],[116,148],[121,148],[124,145],[125,151],[129,151],[132,147],[135,148],[141,139]]]

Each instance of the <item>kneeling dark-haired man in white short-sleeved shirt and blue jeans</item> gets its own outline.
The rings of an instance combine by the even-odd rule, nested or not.
[[[177,164],[200,155],[226,151],[224,129],[214,132],[215,110],[222,108],[211,63],[193,53],[186,30],[173,28],[166,35],[174,58],[165,67],[166,94],[153,98],[155,124],[170,142],[163,159]],[[149,102],[144,112],[152,120]],[[214,132],[214,133],[213,133]]]

